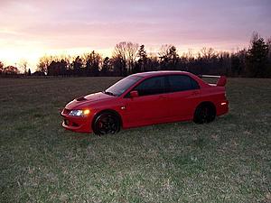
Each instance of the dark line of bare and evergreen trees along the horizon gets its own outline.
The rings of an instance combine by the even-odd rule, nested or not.
[[[27,62],[21,62],[24,74]],[[230,77],[271,78],[271,38],[266,41],[254,33],[248,50],[237,52],[215,51],[202,48],[178,54],[174,45],[163,45],[157,53],[147,53],[145,45],[133,42],[117,43],[112,57],[103,58],[91,51],[77,57],[43,56],[33,75],[48,76],[126,76],[152,70],[185,70],[195,74],[227,75]],[[0,74],[16,74],[12,66],[4,68],[0,61]]]

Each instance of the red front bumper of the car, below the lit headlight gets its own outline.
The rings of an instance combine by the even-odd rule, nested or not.
[[[68,112],[68,113],[67,113]],[[63,117],[62,127],[67,130],[78,133],[91,133],[92,115],[87,117],[70,116],[67,109],[63,109],[61,116]]]

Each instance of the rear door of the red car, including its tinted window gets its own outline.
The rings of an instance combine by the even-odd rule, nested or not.
[[[171,75],[167,77],[167,82],[170,115],[176,120],[192,119],[201,95],[197,81],[187,75]]]

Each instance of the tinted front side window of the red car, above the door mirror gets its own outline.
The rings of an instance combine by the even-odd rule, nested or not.
[[[157,95],[164,93],[164,77],[147,78],[135,90],[139,96]]]

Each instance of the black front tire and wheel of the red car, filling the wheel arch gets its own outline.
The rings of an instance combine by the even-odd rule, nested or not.
[[[116,134],[120,130],[120,120],[116,114],[103,112],[96,117],[92,128],[97,135]]]

